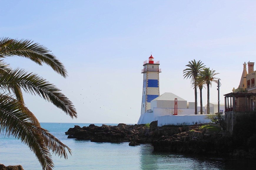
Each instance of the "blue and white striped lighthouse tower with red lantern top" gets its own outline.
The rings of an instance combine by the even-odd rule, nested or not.
[[[149,60],[144,61],[141,73],[143,73],[143,91],[141,114],[150,109],[150,101],[159,96],[159,61],[154,62],[154,57],[151,55]]]

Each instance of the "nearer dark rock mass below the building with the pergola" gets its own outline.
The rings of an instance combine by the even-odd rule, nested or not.
[[[214,154],[256,158],[255,137],[245,139],[247,142],[236,142],[236,137],[228,132],[209,132],[198,129],[181,132],[172,136],[162,136],[152,141],[154,151],[178,152],[186,154]]]

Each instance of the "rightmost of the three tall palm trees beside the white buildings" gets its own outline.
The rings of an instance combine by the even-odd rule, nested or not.
[[[208,67],[204,68],[198,77],[198,82],[200,82],[200,84],[207,85],[207,114],[210,114],[210,85],[212,86],[212,82],[218,83],[218,80],[216,79],[219,78],[214,77],[217,74],[220,73],[215,73],[215,70],[210,70],[210,67]]]

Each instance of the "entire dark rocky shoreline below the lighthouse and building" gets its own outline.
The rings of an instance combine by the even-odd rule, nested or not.
[[[90,140],[91,142],[130,142],[130,146],[150,143],[155,152],[176,152],[184,154],[214,154],[256,158],[256,135],[241,137],[241,134],[228,135],[225,131],[211,132],[200,126],[157,127],[152,122],[145,125],[117,126],[89,125],[70,128],[68,138]],[[237,137],[237,135],[240,135]]]

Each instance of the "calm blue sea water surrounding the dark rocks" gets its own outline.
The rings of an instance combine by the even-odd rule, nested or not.
[[[90,123],[41,123],[54,136],[72,149],[68,159],[53,156],[55,169],[254,169],[252,160],[227,159],[198,155],[155,153],[153,147],[144,144],[136,147],[125,143],[101,143],[67,139],[66,132],[74,125]],[[95,124],[101,126],[102,124]],[[107,124],[117,125],[117,124]],[[42,169],[33,152],[13,137],[0,135],[0,163],[22,165],[25,170]]]

